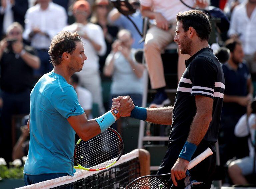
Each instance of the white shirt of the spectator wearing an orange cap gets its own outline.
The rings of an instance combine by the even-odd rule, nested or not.
[[[103,30],[99,25],[87,23],[86,25],[80,23],[74,23],[70,26],[66,26],[63,30],[69,32],[78,31],[79,34],[85,33],[91,40],[101,46],[99,51],[96,51],[91,44],[91,42],[87,39],[81,37],[84,44],[84,54],[87,56],[87,60],[84,61],[84,66],[82,71],[78,72],[79,76],[87,75],[88,73],[95,73],[99,70],[99,56],[103,56],[106,53],[106,42],[104,39]],[[99,56],[98,56],[99,55]]]

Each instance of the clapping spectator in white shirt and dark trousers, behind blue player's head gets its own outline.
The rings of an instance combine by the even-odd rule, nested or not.
[[[34,74],[41,77],[52,70],[48,54],[51,39],[67,24],[65,9],[50,0],[38,0],[38,4],[29,8],[25,15],[23,37],[31,41],[41,60],[41,66]]]

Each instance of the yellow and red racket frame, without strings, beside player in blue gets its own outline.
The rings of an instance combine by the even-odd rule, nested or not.
[[[119,140],[121,141],[121,144],[122,144],[122,149],[121,149],[121,153],[119,154],[118,158],[116,159],[116,161],[114,161],[113,163],[109,164],[108,166],[106,167],[102,167],[102,168],[99,168],[99,169],[89,169],[89,168],[85,168],[83,167],[82,165],[80,165],[77,160],[76,160],[76,148],[77,146],[79,145],[79,143],[82,141],[82,139],[80,138],[77,143],[75,144],[75,150],[74,150],[74,162],[78,165],[78,166],[74,166],[75,169],[83,169],[83,170],[86,170],[86,171],[100,171],[100,170],[103,170],[103,169],[107,169],[109,167],[111,167],[112,165],[114,165],[119,159],[120,157],[122,156],[123,154],[123,151],[124,151],[124,143],[123,143],[123,139],[121,137],[121,135],[113,128],[108,128],[107,130],[110,130],[112,132],[114,132],[118,137],[119,137]],[[105,131],[104,131],[105,132]],[[101,133],[100,133],[101,134]],[[99,134],[99,135],[100,135]],[[96,135],[95,137],[97,137],[98,135]],[[94,137],[93,137],[94,138]],[[89,139],[90,140],[90,139]],[[88,141],[88,140],[87,140]],[[86,141],[85,141],[86,142]]]

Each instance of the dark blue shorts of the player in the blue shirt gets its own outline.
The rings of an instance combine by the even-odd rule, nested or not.
[[[69,174],[67,173],[50,173],[50,174],[40,174],[40,175],[27,175],[24,174],[25,185],[35,184],[38,182],[43,182],[46,180],[51,180],[59,177],[64,177]]]

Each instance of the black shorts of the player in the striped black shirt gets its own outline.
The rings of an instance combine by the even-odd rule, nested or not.
[[[165,174],[165,173],[170,173],[171,168],[173,167],[174,163],[179,157],[179,154],[183,148],[184,144],[171,144],[169,143],[168,145],[168,150],[162,160],[162,163],[158,169],[158,175],[160,174]],[[192,156],[192,159],[194,159],[196,156],[198,156],[200,153],[205,151],[208,147],[212,149],[211,144],[207,143],[202,143],[199,144],[197,147],[194,155]],[[200,162],[198,165],[196,165],[194,168],[189,170],[191,179],[196,180],[198,182],[204,182],[205,184],[199,184],[199,185],[194,185],[193,189],[199,189],[199,188],[204,188],[204,189],[210,189],[211,184],[213,181],[213,173],[215,171],[215,166],[216,166],[216,154],[213,152],[213,155],[207,157],[205,160]],[[176,180],[177,181],[177,180]],[[180,180],[177,182],[178,186],[177,187],[172,187],[175,189],[184,189],[184,179]]]

